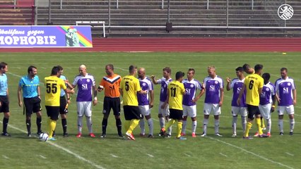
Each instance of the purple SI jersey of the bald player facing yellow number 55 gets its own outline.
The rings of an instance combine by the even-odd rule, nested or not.
[[[77,75],[72,83],[77,85],[76,101],[92,101],[93,86],[95,86],[95,79],[93,75],[87,74],[84,76]]]

